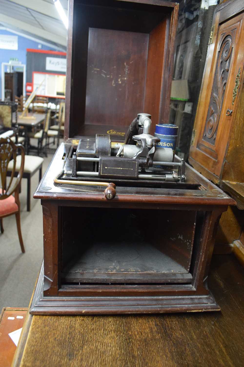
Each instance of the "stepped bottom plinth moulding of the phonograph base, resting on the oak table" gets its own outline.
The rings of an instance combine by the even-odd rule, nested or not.
[[[118,315],[220,310],[210,292],[207,295],[174,297],[43,297],[43,283],[44,264],[42,263],[30,306],[31,315]]]

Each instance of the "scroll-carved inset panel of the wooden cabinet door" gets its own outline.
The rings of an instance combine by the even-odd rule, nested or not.
[[[225,96],[225,87],[229,77],[235,33],[236,28],[232,29],[230,32],[222,34],[219,40],[217,65],[215,69],[207,120],[203,133],[203,139],[213,145],[215,144],[219,117]]]

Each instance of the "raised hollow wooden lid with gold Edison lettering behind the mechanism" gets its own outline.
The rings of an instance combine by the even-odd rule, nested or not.
[[[178,4],[70,0],[64,138],[124,140],[140,112],[168,123]]]

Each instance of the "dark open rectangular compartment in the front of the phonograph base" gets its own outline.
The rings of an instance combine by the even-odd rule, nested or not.
[[[195,211],[63,207],[61,216],[61,286],[191,283]]]

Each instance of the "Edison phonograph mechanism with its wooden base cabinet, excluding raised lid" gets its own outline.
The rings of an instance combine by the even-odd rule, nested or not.
[[[44,265],[31,313],[219,309],[207,272],[233,200],[163,146],[171,135],[150,127],[143,113],[124,144],[97,134],[57,150],[34,194]]]

